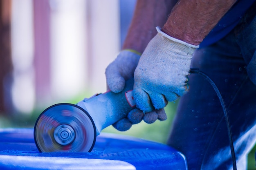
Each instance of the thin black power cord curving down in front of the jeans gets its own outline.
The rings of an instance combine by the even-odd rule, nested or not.
[[[206,75],[205,73],[203,73],[202,71],[199,71],[199,69],[191,68],[190,73],[195,73],[195,74],[198,74],[198,75],[201,75],[202,77],[204,77],[204,79],[206,79],[211,84],[211,86],[215,90],[215,92],[216,92],[216,94],[217,94],[217,96],[220,100],[220,104],[222,106],[222,110],[223,110],[223,113],[224,113],[224,116],[225,116],[227,131],[228,131],[228,134],[229,134],[229,146],[230,146],[230,151],[231,151],[233,170],[236,170],[236,155],[235,155],[235,150],[234,150],[231,126],[230,126],[230,122],[229,122],[229,115],[227,114],[227,109],[226,109],[224,100],[222,99],[222,96],[220,94],[220,91],[217,88],[216,84],[212,81],[212,79],[210,79],[210,77],[208,75]]]

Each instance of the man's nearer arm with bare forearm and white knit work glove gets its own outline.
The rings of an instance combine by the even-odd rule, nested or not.
[[[145,113],[184,95],[192,56],[235,0],[179,0],[150,40],[134,72],[133,96]]]

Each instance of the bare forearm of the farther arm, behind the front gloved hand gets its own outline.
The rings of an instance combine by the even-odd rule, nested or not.
[[[137,0],[135,13],[122,49],[140,53],[156,35],[156,26],[163,26],[177,0]]]

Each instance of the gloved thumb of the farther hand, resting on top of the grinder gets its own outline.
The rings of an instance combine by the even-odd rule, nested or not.
[[[124,89],[125,79],[117,71],[115,64],[111,63],[105,71],[107,88],[114,93],[119,93]]]

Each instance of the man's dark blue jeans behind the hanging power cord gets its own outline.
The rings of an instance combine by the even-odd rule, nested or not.
[[[238,170],[247,169],[247,154],[256,143],[256,85],[251,80],[255,77],[249,77],[246,70],[252,58],[256,59],[255,51],[256,17],[249,12],[225,38],[195,51],[191,64],[206,73],[222,94]],[[200,75],[189,75],[189,85],[189,92],[180,98],[168,144],[185,155],[189,170],[230,170],[229,138],[220,101]]]

